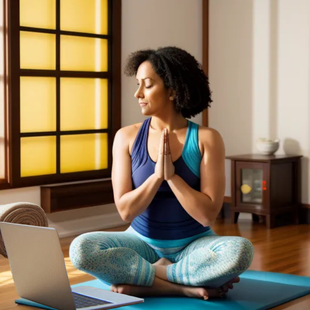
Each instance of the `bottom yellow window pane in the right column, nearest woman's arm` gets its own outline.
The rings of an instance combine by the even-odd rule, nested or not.
[[[60,172],[98,170],[108,167],[108,134],[60,137]]]

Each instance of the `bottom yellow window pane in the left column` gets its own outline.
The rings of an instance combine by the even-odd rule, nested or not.
[[[56,137],[20,139],[20,176],[56,173]]]

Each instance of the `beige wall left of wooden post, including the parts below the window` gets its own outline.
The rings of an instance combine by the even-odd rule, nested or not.
[[[122,1],[122,68],[126,57],[143,48],[175,45],[202,61],[201,0]],[[144,120],[134,98],[135,78],[122,76],[122,126]],[[201,124],[201,115],[192,118]],[[0,191],[0,205],[28,201],[40,205],[40,188]],[[61,237],[125,224],[114,204],[47,214]]]

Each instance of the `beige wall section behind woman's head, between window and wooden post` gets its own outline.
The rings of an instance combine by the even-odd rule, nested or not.
[[[184,48],[202,62],[201,0],[122,1],[122,68],[136,50],[163,46]],[[135,78],[122,76],[122,126],[146,117],[134,98]],[[201,114],[192,118],[202,123]]]

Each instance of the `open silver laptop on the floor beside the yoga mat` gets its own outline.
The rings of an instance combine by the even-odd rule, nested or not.
[[[144,299],[91,286],[71,288],[55,228],[0,222],[17,294],[58,310],[112,309]]]

